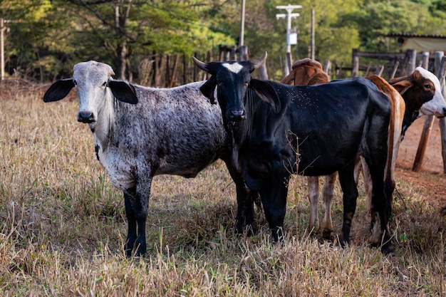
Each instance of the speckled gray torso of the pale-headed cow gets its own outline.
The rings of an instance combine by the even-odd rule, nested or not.
[[[217,160],[228,150],[227,132],[219,105],[209,103],[199,92],[200,85],[202,82],[162,89],[135,85],[138,104],[115,100],[107,160],[98,157],[104,167],[124,172],[127,178],[134,174],[128,168],[147,166],[154,175],[195,177]],[[123,151],[129,156],[121,158],[123,164],[110,164]]]

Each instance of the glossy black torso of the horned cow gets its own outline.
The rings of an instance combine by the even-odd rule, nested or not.
[[[363,136],[386,125],[390,114],[387,97],[364,78],[312,86],[270,83],[281,100],[281,110],[277,114],[259,113],[254,123],[274,123],[274,127],[259,131],[255,125],[259,135],[251,140],[274,138],[271,143],[281,154],[278,159],[290,160],[289,165],[296,164],[297,152],[299,174],[336,172],[364,149]],[[275,131],[274,136],[271,131]],[[296,172],[296,167],[289,170]]]

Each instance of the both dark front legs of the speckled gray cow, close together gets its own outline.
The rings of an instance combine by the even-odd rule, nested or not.
[[[128,219],[127,243],[125,244],[125,255],[132,256],[135,249],[135,256],[145,254],[147,244],[145,241],[145,223],[149,210],[150,184],[152,179],[140,186],[124,191],[125,215]],[[141,194],[143,192],[144,194]]]

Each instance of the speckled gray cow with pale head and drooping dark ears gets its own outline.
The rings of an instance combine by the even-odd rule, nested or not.
[[[236,184],[236,229],[243,231],[244,224],[253,220],[253,200],[230,163],[230,143],[219,105],[209,103],[199,90],[204,82],[177,88],[146,88],[114,80],[114,74],[104,63],[78,63],[73,68],[73,78],[53,83],[43,101],[61,100],[76,87],[78,121],[90,126],[96,157],[111,182],[124,192],[127,256],[133,249],[138,256],[145,254],[152,177],[195,177],[218,158],[227,164]]]

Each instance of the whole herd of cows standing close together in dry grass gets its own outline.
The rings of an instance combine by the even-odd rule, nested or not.
[[[363,166],[370,193],[371,241],[392,254],[388,230],[400,139],[421,115],[446,115],[440,83],[417,68],[389,83],[378,77],[328,82],[320,64],[309,59],[294,67],[284,83],[251,78],[256,61],[204,63],[206,81],[176,88],[147,88],[113,79],[113,69],[88,61],[73,77],[58,80],[43,100],[61,100],[76,88],[78,121],[88,123],[95,155],[121,189],[128,219],[127,256],[145,254],[145,224],[152,178],[157,174],[195,177],[217,159],[227,165],[237,193],[236,231],[254,222],[254,202],[262,204],[271,240],[284,239],[286,197],[291,174],[338,172],[343,192],[342,245],[348,244],[356,210],[357,170]],[[320,79],[322,78],[322,79]],[[310,191],[311,192],[311,191]],[[333,186],[323,194],[323,234],[331,234]],[[316,227],[318,194],[310,197]],[[327,213],[328,212],[328,213]],[[317,227],[316,227],[317,228]]]

